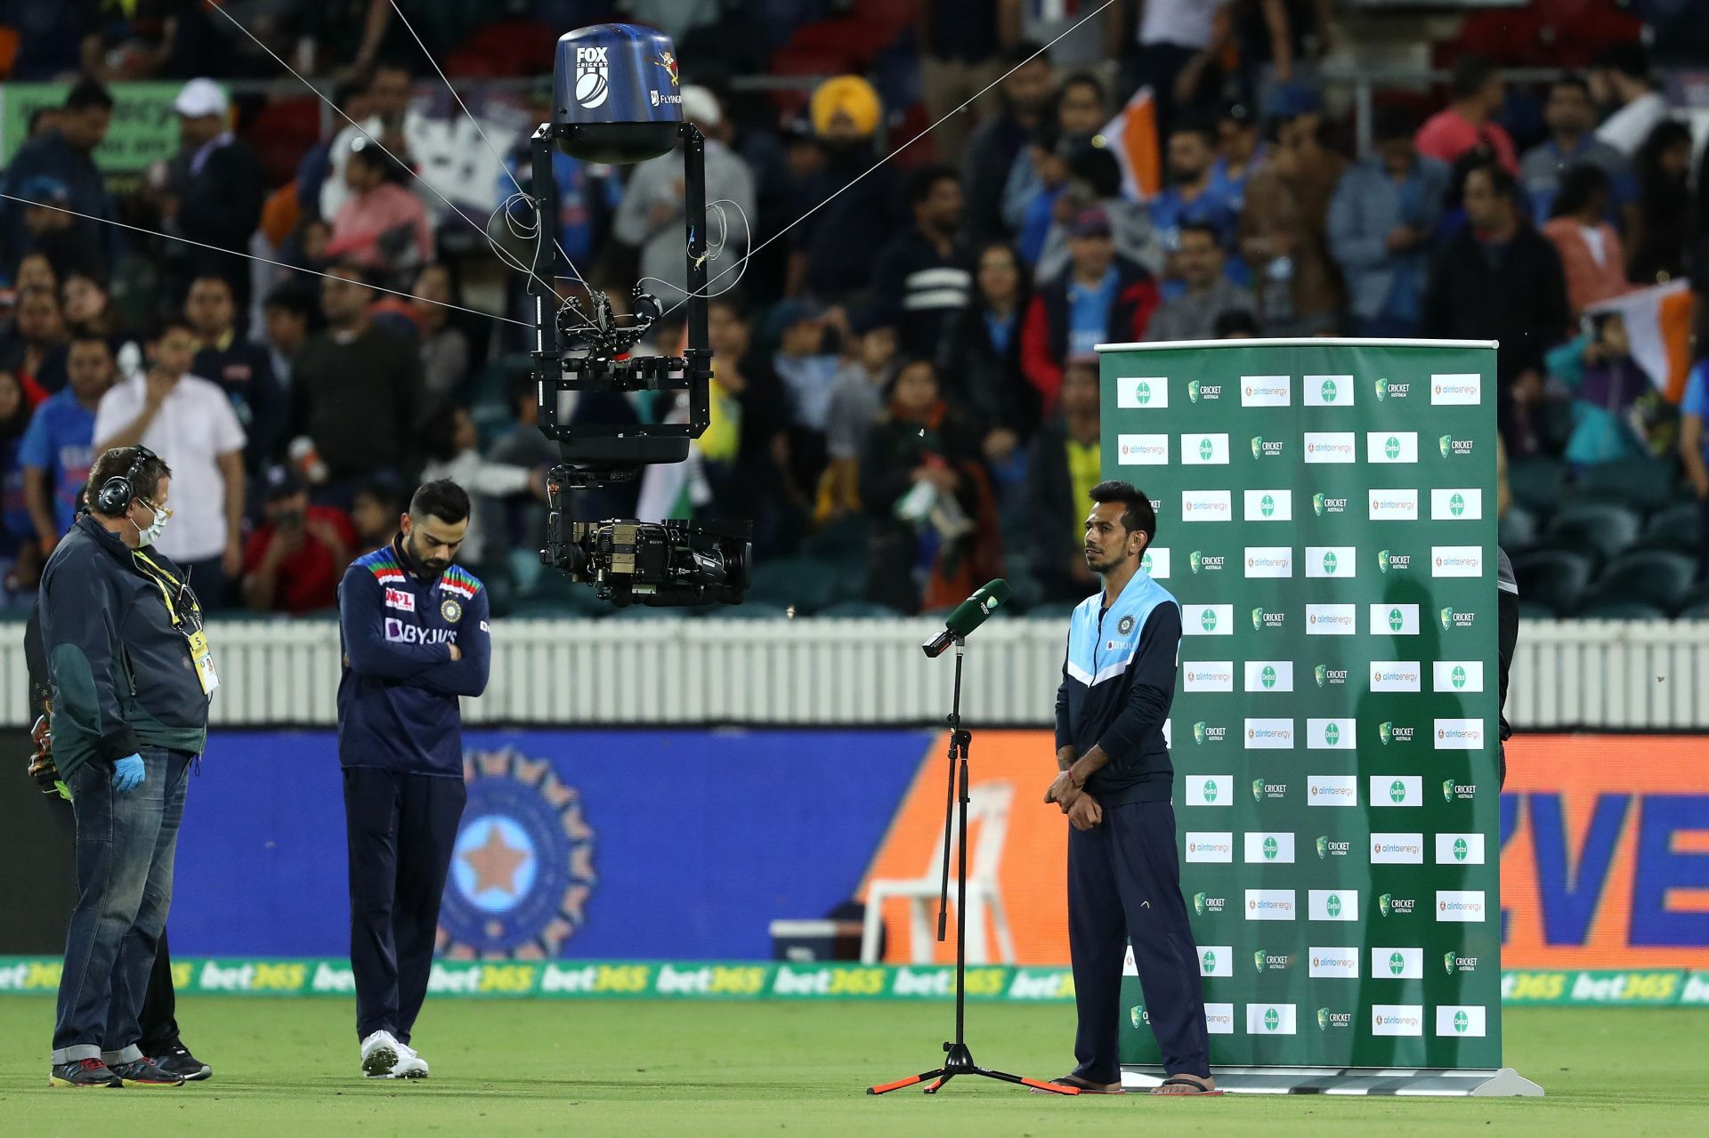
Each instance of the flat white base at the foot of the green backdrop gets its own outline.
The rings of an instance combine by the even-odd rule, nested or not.
[[[1470,1099],[1542,1099],[1543,1088],[1511,1066],[1212,1066],[1220,1090],[1236,1095],[1444,1095]],[[1164,1082],[1160,1066],[1125,1066],[1125,1090]]]

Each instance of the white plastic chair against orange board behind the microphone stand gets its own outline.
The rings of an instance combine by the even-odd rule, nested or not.
[[[974,848],[967,863],[967,964],[990,964],[986,945],[986,912],[996,933],[1000,964],[1015,962],[1015,938],[1008,931],[1008,914],[1003,909],[1003,890],[996,878],[1003,861],[1003,841],[1008,837],[1008,808],[1015,801],[1015,788],[1008,783],[976,783],[967,788],[967,832]],[[950,848],[938,853],[931,865],[916,878],[877,878],[866,889],[866,921],[861,926],[861,964],[878,962],[878,938],[884,930],[884,902],[890,897],[907,899],[909,957],[914,964],[931,960],[937,933],[931,919],[943,882],[943,859],[950,859],[950,904],[962,902],[955,889],[955,858],[959,854],[960,818],[950,830]]]

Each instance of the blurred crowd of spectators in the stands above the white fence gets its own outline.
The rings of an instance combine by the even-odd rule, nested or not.
[[[403,10],[463,77],[538,77],[554,27],[622,17],[672,32],[684,114],[709,140],[708,197],[725,203],[714,277],[783,238],[742,263],[737,287],[735,273],[714,284],[713,420],[694,461],[578,504],[590,518],[692,502],[754,519],[759,603],[918,612],[1001,574],[1027,605],[1084,596],[1102,342],[1499,340],[1516,502],[1504,540],[1565,543],[1589,526],[1571,506],[1596,485],[1596,506],[1634,514],[1624,547],[1600,548],[1576,591],[1533,612],[1576,610],[1646,535],[1685,559],[1709,533],[1709,367],[1670,403],[1632,330],[1596,309],[1709,280],[1709,176],[1694,176],[1636,22],[1540,87],[1461,51],[1432,103],[1381,99],[1355,154],[1314,79],[1328,3],[1114,3],[1046,55],[1072,21],[1019,0],[506,5],[531,17],[521,26],[484,7]],[[521,273],[502,308],[470,302],[463,280],[490,265],[487,241],[410,169],[438,75],[386,0],[226,9],[366,130],[340,118],[280,169],[265,101],[234,106],[215,82],[280,68],[200,3],[0,5],[17,32],[10,77],[70,82],[3,171],[0,605],[27,607],[92,455],[138,439],[174,468],[161,545],[193,566],[208,607],[332,607],[349,560],[390,537],[431,477],[477,497],[465,560],[496,608],[561,601],[531,560],[554,449],[520,355],[530,333],[494,320],[530,311]],[[904,19],[863,22],[860,9]],[[805,101],[728,84],[851,26],[882,31],[868,77],[827,79]],[[520,41],[543,43],[545,62],[506,48]],[[181,149],[115,197],[92,152],[123,97],[111,84],[137,79],[183,84]],[[1142,87],[1164,173],[1150,197],[1106,135]],[[528,109],[543,114],[547,94]],[[511,147],[501,200],[528,188],[525,154]],[[680,155],[605,167],[559,154],[554,178],[578,273],[617,304],[636,280],[673,304]],[[520,217],[516,200],[501,208]],[[677,314],[637,350],[680,343]],[[574,414],[678,408],[584,396]],[[1661,489],[1624,501],[1634,484]],[[1690,569],[1658,610],[1685,607]]]

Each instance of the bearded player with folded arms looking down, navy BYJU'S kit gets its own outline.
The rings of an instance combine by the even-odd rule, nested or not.
[[[350,846],[355,1034],[369,1078],[426,1078],[410,1029],[427,998],[439,897],[463,817],[458,695],[487,689],[487,591],[451,564],[468,494],[429,482],[391,543],[338,584],[338,759]]]

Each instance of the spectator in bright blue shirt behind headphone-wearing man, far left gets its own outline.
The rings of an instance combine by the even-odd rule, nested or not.
[[[43,557],[77,518],[77,497],[94,463],[96,408],[113,386],[113,352],[99,335],[73,337],[65,369],[70,381],[36,410],[17,456]]]

